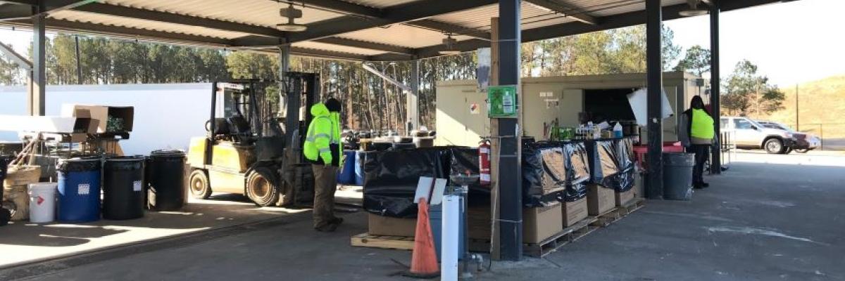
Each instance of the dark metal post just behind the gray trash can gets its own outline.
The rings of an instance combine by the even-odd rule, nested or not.
[[[646,84],[648,85],[648,197],[663,197],[662,6],[646,1]]]

